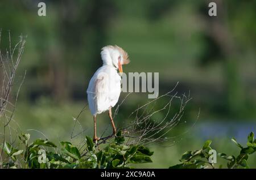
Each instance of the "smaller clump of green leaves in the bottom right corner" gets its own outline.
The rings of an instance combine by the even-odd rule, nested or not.
[[[240,154],[236,157],[234,155],[228,156],[225,153],[218,153],[218,156],[229,161],[227,163],[227,168],[249,168],[249,165],[247,164],[248,157],[256,151],[256,140],[254,139],[254,132],[251,132],[247,137],[247,147],[243,147],[241,144],[237,143],[235,138],[232,138],[231,140],[234,144],[237,145],[237,147],[241,148]],[[207,140],[204,143],[203,148],[200,150],[185,152],[180,159],[182,163],[171,166],[170,169],[203,169],[209,168],[208,165],[214,168],[214,164],[208,161],[210,157],[209,151],[212,149],[210,147],[211,143],[212,141]],[[219,168],[222,167],[223,165],[220,165]]]

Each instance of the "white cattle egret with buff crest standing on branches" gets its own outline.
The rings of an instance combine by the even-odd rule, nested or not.
[[[127,52],[119,46],[105,46],[101,49],[103,65],[90,79],[87,88],[87,98],[90,112],[93,115],[94,133],[93,141],[100,138],[96,134],[96,115],[109,110],[109,118],[113,127],[113,135],[117,132],[112,118],[112,108],[117,104],[121,93],[122,65],[130,62]],[[117,72],[119,70],[119,74]]]

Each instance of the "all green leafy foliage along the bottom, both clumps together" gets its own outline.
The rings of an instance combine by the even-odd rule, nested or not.
[[[30,134],[22,134],[19,140],[22,149],[14,148],[8,142],[3,144],[3,152],[7,158],[3,168],[132,168],[131,164],[152,162],[153,152],[139,144],[127,145],[122,132],[118,132],[114,140],[100,149],[92,138],[85,137],[85,149],[79,149],[71,142],[60,142],[57,147],[49,140],[36,139],[30,143]],[[232,138],[232,142],[240,148],[237,156],[218,153],[218,157],[227,160],[226,168],[249,168],[249,155],[256,151],[256,140],[251,132],[247,137],[246,147]],[[181,164],[170,169],[204,169],[216,168],[212,162],[210,150],[211,140],[207,140],[199,150],[187,151],[180,158]],[[220,165],[218,168],[223,168]]]

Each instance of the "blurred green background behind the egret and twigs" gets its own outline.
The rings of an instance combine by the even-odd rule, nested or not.
[[[20,33],[27,36],[13,91],[26,70],[14,128],[33,138],[43,137],[38,130],[53,142],[69,140],[73,117],[86,104],[89,79],[101,66],[101,48],[116,44],[131,59],[124,72],[159,72],[160,95],[179,82],[175,92],[193,98],[169,134],[179,135],[174,145],[152,145],[154,162],[140,167],[168,168],[207,139],[217,151],[237,154],[230,138],[245,144],[247,134],[256,132],[256,1],[45,0],[47,15],[38,16],[39,2],[0,2],[0,48],[8,47],[9,30],[13,44]],[[208,15],[209,2],[217,3],[217,17]],[[147,93],[129,95],[115,123],[131,121],[127,115],[147,101]],[[172,110],[178,106],[174,102]],[[92,135],[89,110],[80,123],[75,131]],[[98,115],[98,134],[109,123],[107,113]],[[249,165],[256,168],[255,155]]]

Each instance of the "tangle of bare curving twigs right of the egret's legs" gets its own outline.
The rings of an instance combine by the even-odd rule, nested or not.
[[[127,138],[127,145],[152,143],[163,145],[163,143],[170,142],[175,138],[170,138],[168,132],[170,132],[181,121],[185,106],[192,99],[190,97],[190,92],[188,95],[183,94],[181,96],[177,96],[177,92],[174,92],[177,84],[170,92],[167,92],[166,94],[159,96],[158,98],[155,98],[142,106],[138,106],[138,108],[135,109],[128,117],[129,119],[133,119],[133,121],[131,121],[126,127],[118,128],[122,131],[123,136]],[[171,114],[171,105],[173,104],[174,100],[178,100],[180,103],[179,110],[178,112],[172,112]],[[162,108],[156,109],[156,104],[162,102],[166,103],[162,105]],[[115,112],[118,112],[118,108],[119,105],[117,106]],[[163,115],[162,119],[154,118],[154,115],[158,113]],[[100,140],[98,140],[97,145],[108,143],[108,140],[114,138],[113,135],[102,137],[103,134],[101,135]]]

